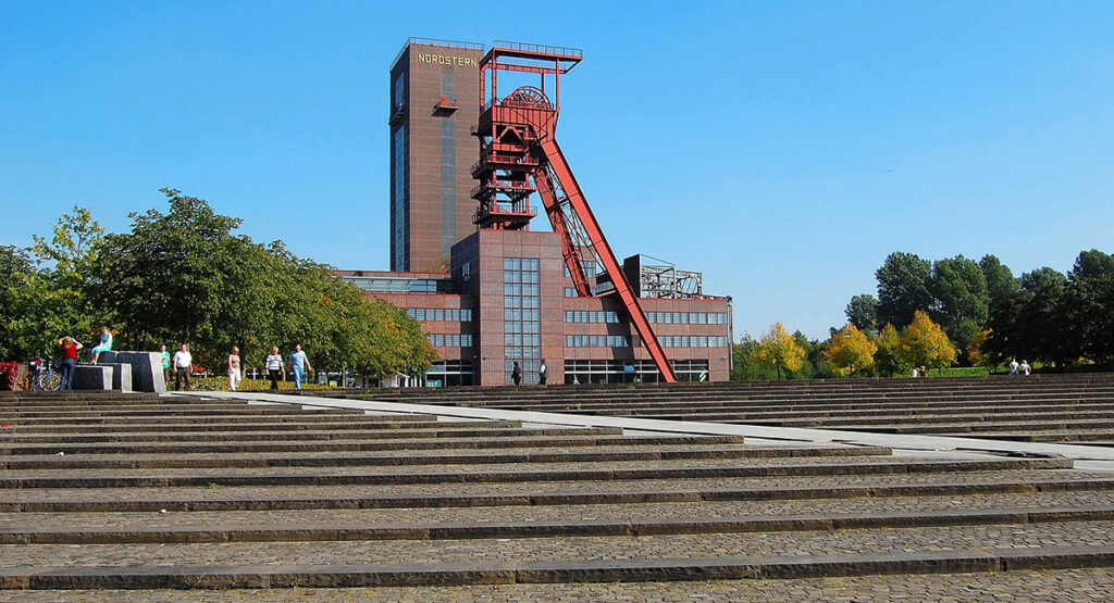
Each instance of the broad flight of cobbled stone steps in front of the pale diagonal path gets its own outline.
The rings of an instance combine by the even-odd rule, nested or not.
[[[879,384],[870,404],[897,407],[893,391],[934,387]],[[1008,401],[1010,387],[980,396]],[[779,401],[763,403],[769,412],[853,406],[853,386],[834,388],[749,393]],[[642,413],[691,393],[722,409],[745,402],[743,389],[522,388],[463,402],[622,413],[627,401]],[[0,586],[13,590],[1110,567],[1112,520],[1114,474],[1059,457],[895,456],[189,396],[0,395]]]

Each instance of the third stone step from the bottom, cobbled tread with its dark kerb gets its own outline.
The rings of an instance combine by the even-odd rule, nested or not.
[[[0,491],[7,512],[111,511],[282,511],[311,508],[422,508],[694,503],[722,501],[866,501],[921,496],[973,497],[1049,493],[1100,493],[1114,490],[1108,473],[987,471],[977,473],[872,474],[834,476],[762,476],[678,480],[606,480],[580,482],[321,485],[291,486],[276,494],[266,486],[100,488],[23,488]],[[886,503],[896,504],[893,502]]]

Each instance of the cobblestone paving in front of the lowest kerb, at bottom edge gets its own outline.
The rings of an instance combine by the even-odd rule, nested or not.
[[[984,574],[924,574],[825,577],[808,580],[739,580],[716,582],[645,582],[619,584],[509,584],[405,589],[290,589],[231,591],[0,591],[0,602],[273,602],[398,601],[486,602],[617,601],[712,603],[740,601],[872,602],[925,601],[1105,603],[1114,592],[1114,571],[1058,570]]]

